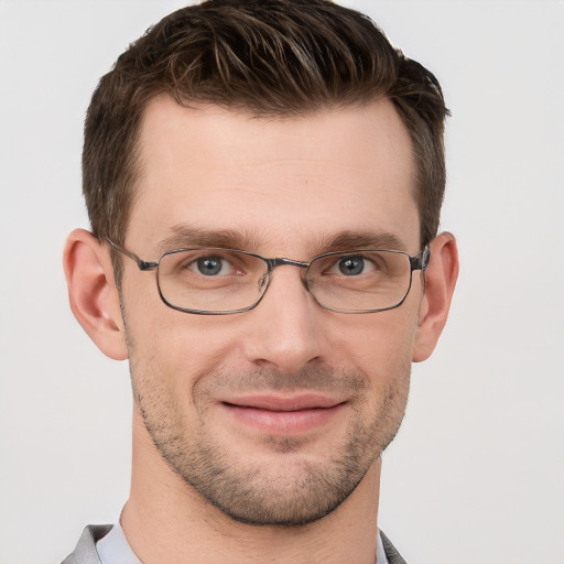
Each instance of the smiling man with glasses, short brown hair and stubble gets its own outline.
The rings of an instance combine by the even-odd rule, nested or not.
[[[88,110],[73,312],[129,359],[131,492],[65,564],[404,562],[381,453],[457,275],[434,76],[325,0],[165,18]]]

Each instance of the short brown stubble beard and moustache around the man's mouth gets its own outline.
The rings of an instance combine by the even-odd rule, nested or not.
[[[143,424],[162,458],[186,485],[238,522],[297,527],[337,509],[392,441],[405,411],[411,362],[403,362],[401,373],[379,390],[376,402],[367,375],[325,366],[293,375],[263,369],[234,373],[223,368],[197,381],[189,402],[161,384],[167,375],[154,367],[143,370],[134,354],[130,366]],[[237,456],[236,445],[226,445],[214,430],[213,399],[221,390],[327,392],[349,398],[351,413],[323,460],[306,455],[307,440],[264,435],[259,445],[270,456],[265,464]],[[187,424],[187,409],[196,413],[195,424]]]

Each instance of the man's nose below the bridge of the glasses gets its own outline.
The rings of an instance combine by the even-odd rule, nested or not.
[[[295,267],[278,268],[260,304],[245,314],[243,352],[261,368],[293,373],[326,354],[327,311],[307,292],[301,274]]]

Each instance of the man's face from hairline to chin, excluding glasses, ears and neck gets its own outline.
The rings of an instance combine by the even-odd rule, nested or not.
[[[124,247],[143,259],[202,245],[308,261],[390,236],[421,250],[411,144],[387,101],[263,119],[162,97],[140,141]],[[322,308],[301,276],[276,269],[252,311],[192,315],[124,262],[135,409],[169,466],[242,522],[333,511],[405,409],[420,276],[399,308],[372,314]]]

